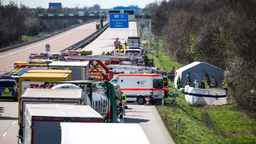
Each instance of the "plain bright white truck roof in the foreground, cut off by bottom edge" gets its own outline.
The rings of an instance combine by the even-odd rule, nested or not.
[[[124,131],[120,132],[120,129]],[[61,122],[61,144],[150,144],[150,142],[139,124]]]

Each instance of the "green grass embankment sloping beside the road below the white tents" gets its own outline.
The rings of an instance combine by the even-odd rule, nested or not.
[[[181,66],[172,62],[165,54],[159,42],[159,58],[153,55],[156,67],[165,67],[170,72],[173,66]],[[152,58],[152,54],[148,54]],[[173,85],[173,82],[170,82]],[[179,93],[174,87],[169,87],[170,93]],[[170,95],[169,95],[170,96]],[[244,112],[232,104],[222,106],[195,107],[185,101],[185,96],[179,93],[176,98],[165,99],[164,106],[156,106],[163,118],[167,113],[166,128],[175,143],[256,143],[256,120],[247,117]],[[175,130],[178,116],[181,115],[181,130]]]

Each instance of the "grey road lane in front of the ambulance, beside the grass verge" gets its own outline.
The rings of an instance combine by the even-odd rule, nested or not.
[[[125,123],[138,123],[151,144],[174,144],[154,105],[127,104]]]

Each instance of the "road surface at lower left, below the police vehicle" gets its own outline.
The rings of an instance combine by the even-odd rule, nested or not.
[[[17,144],[18,102],[0,100],[0,144]]]

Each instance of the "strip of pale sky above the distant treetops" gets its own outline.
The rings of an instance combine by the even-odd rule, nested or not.
[[[8,4],[10,0],[3,0],[4,4]],[[16,0],[13,0],[16,2]],[[62,3],[64,7],[79,7],[92,6],[93,4],[100,4],[101,8],[110,8],[115,6],[128,6],[138,5],[140,8],[144,8],[146,4],[152,3],[155,0],[17,0],[18,4],[23,3],[28,7],[36,8],[41,5],[43,8],[48,8],[49,3]]]

